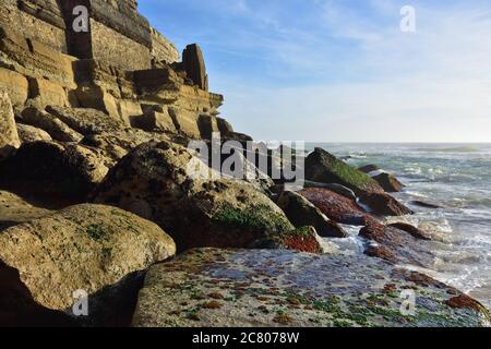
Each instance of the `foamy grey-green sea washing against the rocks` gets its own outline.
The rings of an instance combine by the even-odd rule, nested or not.
[[[491,309],[491,144],[308,144],[352,166],[369,164],[395,174],[405,185],[398,200],[412,208],[407,221],[431,233],[428,268],[406,266],[470,294]],[[414,201],[444,206],[423,208]],[[392,218],[391,218],[392,219]],[[394,220],[394,219],[392,219]],[[362,253],[359,228],[333,241],[345,253]]]

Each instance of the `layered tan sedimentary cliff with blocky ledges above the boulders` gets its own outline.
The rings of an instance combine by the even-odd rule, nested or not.
[[[208,93],[201,48],[179,58],[133,0],[7,0],[0,9],[0,88],[19,113],[93,108],[145,131],[232,134],[217,118],[223,96]]]

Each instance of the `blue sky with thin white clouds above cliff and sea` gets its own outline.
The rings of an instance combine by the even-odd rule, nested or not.
[[[415,9],[416,32],[400,29]],[[490,0],[140,0],[263,141],[491,142]]]

